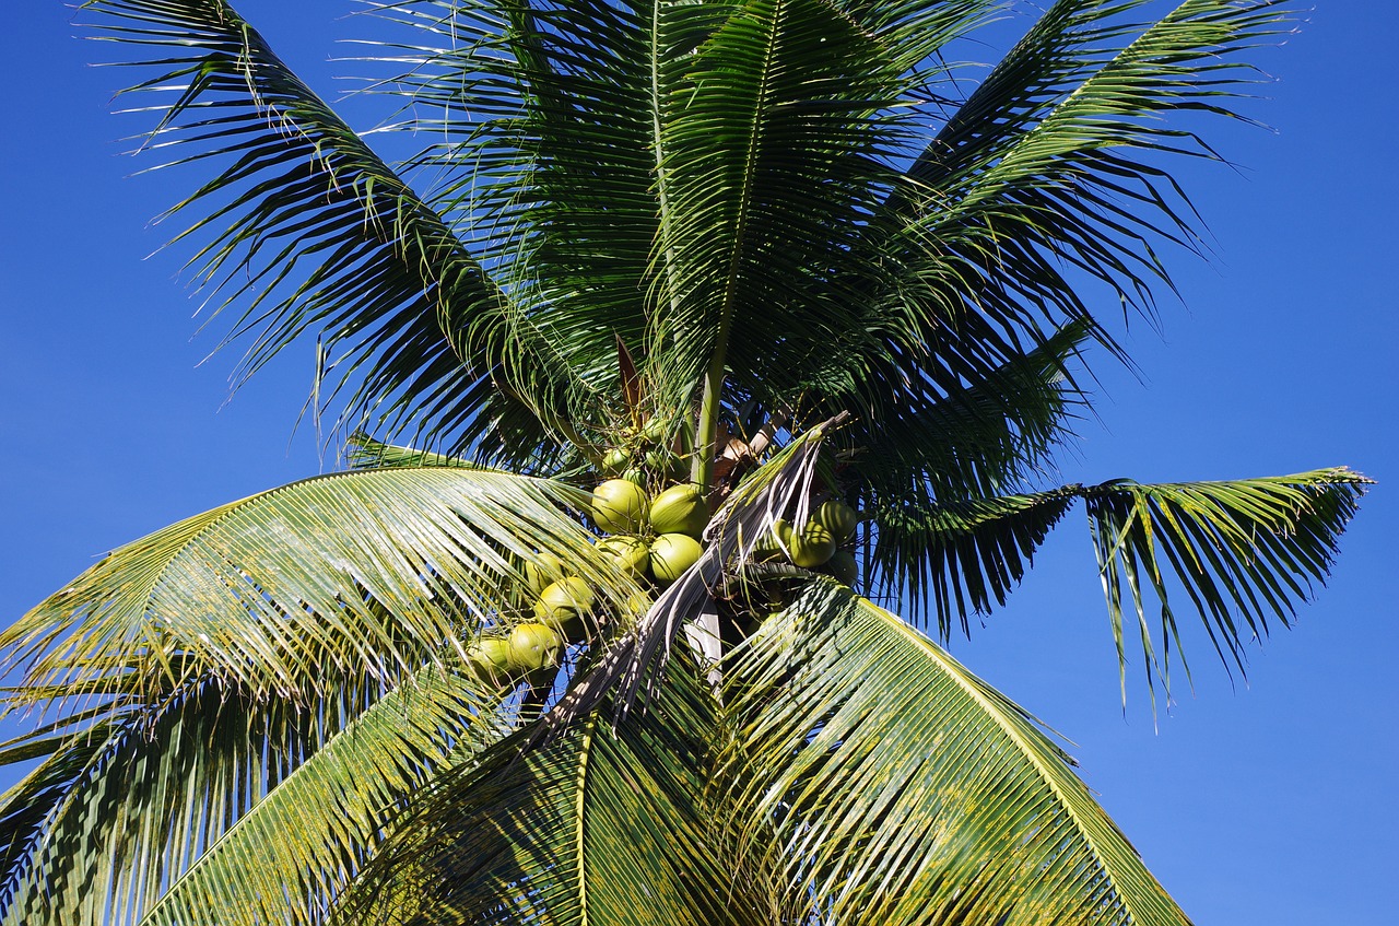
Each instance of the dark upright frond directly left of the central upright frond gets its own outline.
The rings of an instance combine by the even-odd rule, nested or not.
[[[639,344],[656,206],[649,144],[660,3],[396,4],[411,45],[397,129],[441,138],[413,166],[429,201],[498,267],[537,336],[607,392],[611,339]],[[655,39],[659,41],[659,39]]]

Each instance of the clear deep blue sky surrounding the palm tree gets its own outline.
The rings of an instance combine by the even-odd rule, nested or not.
[[[351,85],[336,39],[364,35],[332,0],[236,3],[322,95]],[[1023,4],[1027,10],[1030,4]],[[200,365],[218,323],[151,218],[189,179],[130,178],[144,127],[109,115],[123,83],[85,67],[50,0],[0,4],[0,621],[97,557],[173,520],[336,466],[294,429],[311,347],[229,401],[238,348]],[[1023,22],[1021,22],[1023,25]],[[1214,257],[1172,255],[1182,301],[1133,325],[1140,378],[1101,362],[1098,420],[1065,481],[1233,478],[1347,464],[1377,478],[1330,586],[1293,631],[1249,649],[1247,684],[1202,632],[1195,691],[1153,719],[1129,667],[1122,709],[1087,523],[1072,512],[1003,608],[953,652],[1076,746],[1081,775],[1199,923],[1395,923],[1399,864],[1399,4],[1319,0],[1276,83],[1248,106],[1273,126],[1214,124],[1237,166],[1177,165]],[[374,106],[350,108],[369,127]],[[368,113],[368,115],[365,115]],[[1111,315],[1112,309],[1104,306]],[[0,769],[0,788],[11,781]]]

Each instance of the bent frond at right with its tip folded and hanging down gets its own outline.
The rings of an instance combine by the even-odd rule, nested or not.
[[[1143,485],[1118,480],[1046,492],[888,505],[874,562],[886,590],[936,614],[940,634],[985,614],[1020,582],[1065,512],[1084,499],[1126,697],[1126,625],[1142,641],[1147,687],[1170,694],[1170,655],[1185,664],[1170,590],[1203,620],[1226,669],[1244,671],[1244,646],[1286,625],[1323,585],[1346,522],[1370,480],[1346,469],[1251,480]],[[1154,596],[1160,618],[1149,614]],[[1158,656],[1157,652],[1161,652]],[[1186,669],[1188,671],[1188,669]]]

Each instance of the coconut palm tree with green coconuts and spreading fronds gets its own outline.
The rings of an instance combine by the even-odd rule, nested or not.
[[[350,466],[4,632],[3,922],[1186,922],[939,643],[1083,502],[1123,692],[1188,611],[1242,670],[1364,490],[1045,481],[1125,359],[1091,306],[1196,243],[1184,116],[1287,28],[1146,6],[979,73],[992,0],[392,3],[390,166],[227,3],[87,4],[214,165],[245,372],[315,336]]]

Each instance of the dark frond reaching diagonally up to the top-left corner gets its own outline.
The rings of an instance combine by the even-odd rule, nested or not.
[[[99,38],[157,56],[158,74],[132,88],[161,98],[145,108],[161,119],[145,147],[168,164],[225,165],[173,211],[204,210],[180,236],[210,234],[192,260],[199,280],[222,306],[243,305],[234,336],[255,343],[242,375],[315,333],[320,376],[339,379],[330,392],[358,383],[347,421],[374,413],[448,443],[481,404],[508,401],[504,383],[546,425],[586,399],[443,220],[231,6],[92,0],[85,10],[101,14]],[[547,434],[536,421],[533,445],[483,452],[527,460]]]

